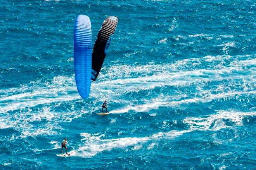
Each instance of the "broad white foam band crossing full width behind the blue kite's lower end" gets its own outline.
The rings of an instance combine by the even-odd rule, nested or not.
[[[228,57],[229,58],[229,57]],[[221,57],[206,56],[202,60],[213,62],[223,60]],[[256,59],[234,60],[227,66],[218,66],[217,69],[197,69],[188,71],[178,71],[177,67],[184,67],[189,62],[195,63],[198,59],[178,61],[175,64],[165,65],[139,65],[139,66],[113,66],[105,70],[104,77],[113,77],[111,80],[103,80],[92,83],[91,97],[100,100],[100,96],[113,99],[111,96],[120,96],[127,91],[138,91],[142,89],[152,89],[163,86],[175,86],[189,84],[200,81],[216,81],[227,79],[241,79],[245,77],[244,72],[255,73],[254,69],[246,69],[256,64]],[[185,63],[185,64],[184,64]],[[197,65],[197,64],[196,64]],[[176,70],[176,72],[172,72]],[[135,78],[133,78],[135,73]],[[116,77],[115,77],[115,76]],[[247,77],[249,78],[249,77]],[[253,81],[253,79],[252,79]],[[106,89],[107,87],[107,89]],[[0,99],[0,112],[6,113],[17,109],[46,105],[59,101],[79,100],[80,96],[76,92],[74,75],[57,76],[50,82],[36,82],[32,86],[22,86],[21,88],[7,89],[5,94],[16,93],[16,91],[31,91],[29,93],[14,94],[4,96]]]

